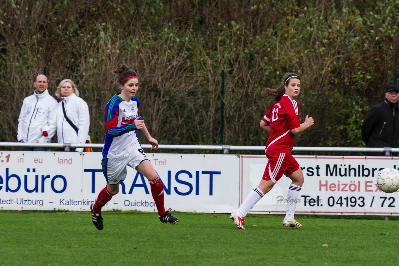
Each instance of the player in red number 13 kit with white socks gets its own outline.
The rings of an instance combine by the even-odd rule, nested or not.
[[[300,77],[295,73],[286,73],[277,89],[265,89],[263,96],[270,98],[270,109],[261,120],[261,128],[269,132],[266,144],[267,162],[261,183],[249,192],[247,198],[230,215],[230,219],[238,229],[245,229],[244,217],[255,204],[269,192],[282,175],[292,180],[288,188],[286,214],[282,225],[300,228],[302,225],[295,221],[296,202],[303,184],[303,173],[298,162],[292,157],[294,136],[314,124],[312,117],[306,115],[305,121],[300,123],[298,103],[294,100],[300,92]]]

